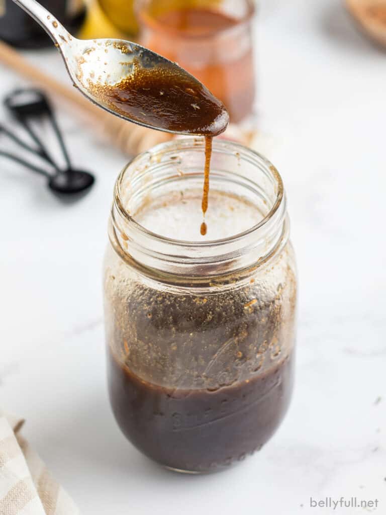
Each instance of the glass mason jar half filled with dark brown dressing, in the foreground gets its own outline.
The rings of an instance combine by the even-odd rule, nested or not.
[[[282,179],[215,140],[208,233],[204,143],[139,155],[117,179],[104,269],[115,418],[145,455],[183,472],[258,451],[292,391],[296,267]]]

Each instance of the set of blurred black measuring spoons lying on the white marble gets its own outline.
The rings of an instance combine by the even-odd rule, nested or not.
[[[14,161],[23,164],[33,171],[38,171],[39,173],[45,175],[48,178],[48,187],[50,190],[60,195],[62,198],[75,200],[75,198],[79,197],[79,194],[85,194],[94,184],[95,178],[88,171],[73,168],[68,156],[67,149],[64,145],[63,137],[59,130],[56,117],[46,96],[41,91],[36,89],[18,89],[7,95],[7,97],[4,99],[4,104],[17,119],[17,121],[29,133],[32,140],[36,143],[36,148],[33,148],[23,142],[20,138],[18,138],[5,127],[2,127],[3,132],[24,149],[34,153],[34,155],[38,155],[40,158],[44,159],[46,162],[52,165],[55,168],[55,173],[54,175],[49,174],[44,169],[34,166],[19,158],[18,156],[11,155],[8,152],[0,152],[0,155],[13,159]],[[29,123],[31,119],[39,118],[44,115],[48,117],[57,136],[67,166],[65,170],[61,169],[55,163],[55,161],[50,156],[48,149]]]

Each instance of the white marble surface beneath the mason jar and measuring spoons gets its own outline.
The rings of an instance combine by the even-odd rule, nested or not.
[[[60,113],[74,162],[98,177],[71,207],[1,161],[0,405],[26,417],[26,436],[85,514],[334,511],[311,508],[311,496],[378,499],[386,513],[386,53],[337,0],[265,0],[257,49],[261,128],[299,260],[299,352],[285,422],[235,469],[165,472],[112,418],[101,260],[127,158]],[[28,58],[64,77],[55,53]],[[2,94],[20,84],[0,73]]]

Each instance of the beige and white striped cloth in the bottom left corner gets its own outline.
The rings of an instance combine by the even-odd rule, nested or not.
[[[0,412],[0,515],[79,515],[20,435],[23,424]]]

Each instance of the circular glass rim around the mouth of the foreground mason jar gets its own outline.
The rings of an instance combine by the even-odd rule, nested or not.
[[[262,156],[259,152],[252,150],[251,148],[245,147],[244,145],[241,145],[240,143],[236,143],[229,140],[222,140],[222,139],[214,139],[213,140],[213,151],[215,150],[228,150],[232,151],[233,153],[238,153],[240,156],[240,159],[244,156],[250,156],[256,161],[260,162],[260,164],[264,165],[266,174],[270,175],[270,178],[275,182],[276,185],[276,198],[273,202],[273,205],[269,212],[266,214],[264,218],[262,218],[257,224],[252,226],[250,229],[247,229],[245,231],[242,231],[240,233],[237,233],[235,235],[226,237],[226,238],[219,238],[214,240],[207,240],[204,242],[199,241],[188,241],[188,240],[182,240],[182,239],[174,239],[169,238],[166,236],[162,236],[160,234],[157,234],[153,231],[150,231],[143,227],[141,224],[139,224],[127,211],[125,206],[123,205],[121,201],[121,186],[122,182],[125,178],[125,174],[127,173],[128,169],[135,165],[135,163],[144,160],[145,158],[149,162],[154,162],[157,159],[159,159],[160,155],[162,156],[167,151],[176,150],[176,151],[183,151],[184,149],[187,150],[191,147],[194,147],[197,149],[198,146],[202,146],[204,151],[204,143],[203,138],[184,138],[184,139],[176,139],[172,140],[166,143],[160,143],[159,145],[156,145],[152,147],[149,150],[146,150],[144,152],[139,153],[136,157],[134,157],[129,163],[121,170],[114,188],[114,203],[115,207],[118,209],[119,214],[130,224],[132,228],[134,228],[139,233],[150,236],[154,239],[156,239],[159,242],[163,242],[168,245],[173,245],[174,247],[186,247],[189,246],[192,249],[204,249],[207,247],[210,248],[216,248],[223,246],[225,244],[229,243],[235,243],[240,241],[241,239],[248,237],[249,235],[257,232],[258,230],[262,229],[263,227],[267,226],[267,224],[272,220],[272,218],[275,216],[275,214],[278,212],[280,206],[283,205],[283,202],[285,202],[285,192],[284,192],[284,184],[283,179],[280,176],[278,170],[276,167],[264,156]]]

